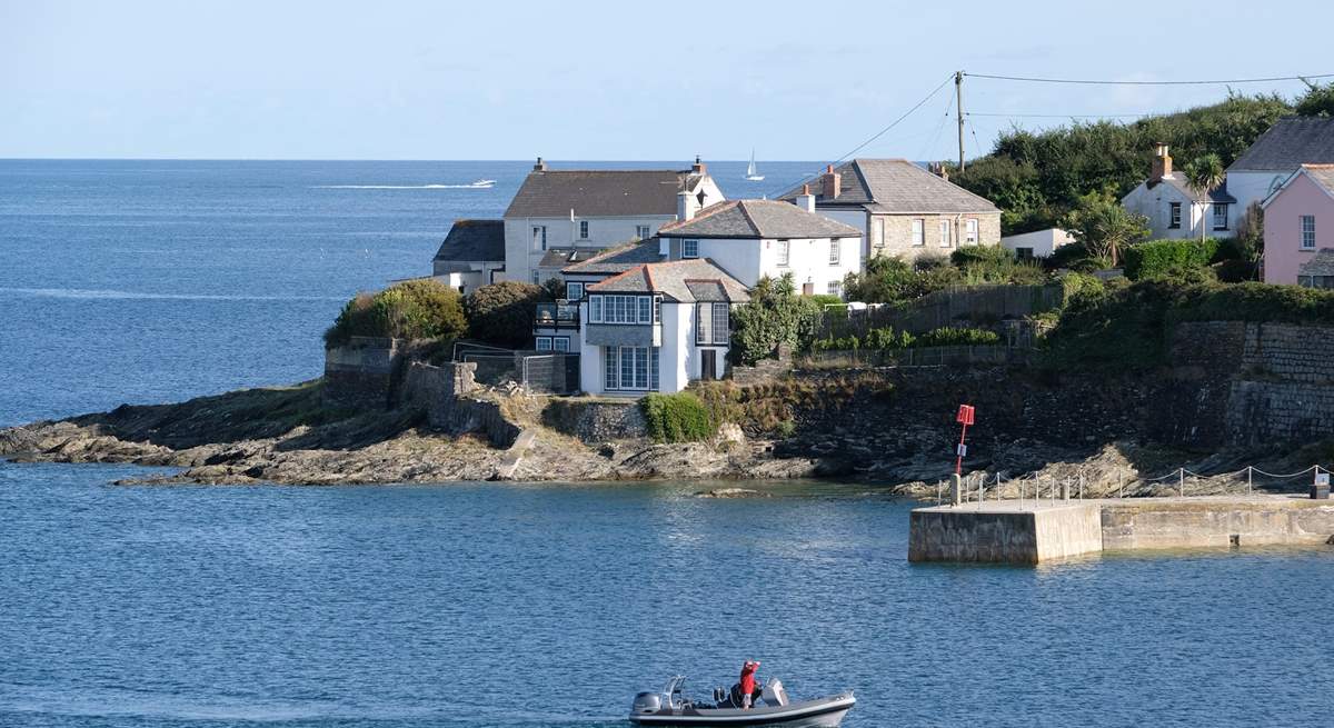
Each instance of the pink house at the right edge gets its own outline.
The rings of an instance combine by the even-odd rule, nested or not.
[[[1334,164],[1303,164],[1261,207],[1265,283],[1334,288]]]

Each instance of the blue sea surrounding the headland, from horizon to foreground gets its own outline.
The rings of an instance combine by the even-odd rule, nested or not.
[[[815,165],[760,167],[711,165]],[[528,168],[0,161],[0,427],[317,376],[344,300]],[[624,725],[744,659],[854,728],[1334,712],[1334,547],[914,567],[866,484],[111,485],[143,472],[0,464],[0,725]]]

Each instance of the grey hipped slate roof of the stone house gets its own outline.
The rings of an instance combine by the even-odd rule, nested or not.
[[[991,200],[943,180],[906,159],[854,159],[835,167],[834,171],[842,177],[839,196],[828,199],[820,195],[816,179],[810,183],[811,191],[815,192],[815,204],[864,207],[871,212],[895,215],[1000,212]],[[800,191],[800,187],[796,187],[779,199],[795,199]]]

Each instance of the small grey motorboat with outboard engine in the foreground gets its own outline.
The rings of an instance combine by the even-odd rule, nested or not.
[[[759,699],[742,708],[740,685],[731,691],[714,688],[714,700],[700,703],[683,695],[686,679],[672,677],[662,692],[642,692],[630,709],[630,723],[635,725],[692,725],[715,728],[724,725],[782,725],[783,728],[836,728],[852,709],[856,699],[852,691],[831,697],[791,701],[783,683],[770,677],[755,692]]]

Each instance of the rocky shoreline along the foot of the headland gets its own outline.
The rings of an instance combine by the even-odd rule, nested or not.
[[[960,375],[978,376],[978,375]],[[983,375],[984,379],[984,375]],[[479,480],[764,480],[838,477],[875,484],[878,492],[934,500],[950,472],[954,428],[947,419],[926,421],[899,409],[920,407],[919,396],[898,383],[860,381],[855,395],[831,401],[816,391],[806,404],[786,393],[800,429],[766,437],[750,428],[724,427],[712,441],[654,444],[616,439],[587,444],[542,427],[523,395],[504,405],[526,433],[522,457],[495,447],[479,432],[432,429],[412,409],[384,412],[331,409],[320,383],[247,389],[168,405],[121,405],[111,412],[0,429],[0,457],[19,463],[120,463],[180,468],[120,484],[390,484]],[[844,380],[838,387],[847,387]],[[819,385],[815,385],[819,387]],[[887,389],[886,389],[887,391]],[[810,392],[807,392],[810,393]],[[946,396],[955,396],[947,393]],[[1030,400],[1031,405],[1031,400]],[[540,407],[539,407],[540,408]],[[847,421],[852,408],[856,420]],[[996,407],[999,409],[999,407]],[[524,412],[528,412],[526,416]],[[1106,437],[1062,431],[1045,440],[1022,428],[996,428],[978,443],[974,475],[988,479],[987,496],[1031,495],[1034,481],[1055,488],[1070,481],[1089,497],[1173,495],[1177,480],[1147,480],[1178,467],[1202,476],[1186,479],[1194,495],[1245,492],[1234,473],[1247,465],[1291,472],[1310,464],[1302,451],[1239,449],[1185,453],[1141,444],[1125,423],[1105,427]],[[803,433],[804,432],[804,433]],[[1285,469],[1286,468],[1286,469]],[[1026,479],[1026,480],[1025,480]],[[975,480],[974,480],[975,481]],[[1263,484],[1261,484],[1263,485]],[[1277,484],[1283,485],[1283,484]],[[1291,487],[1291,484],[1289,484]],[[708,497],[747,497],[748,488],[716,488]]]

